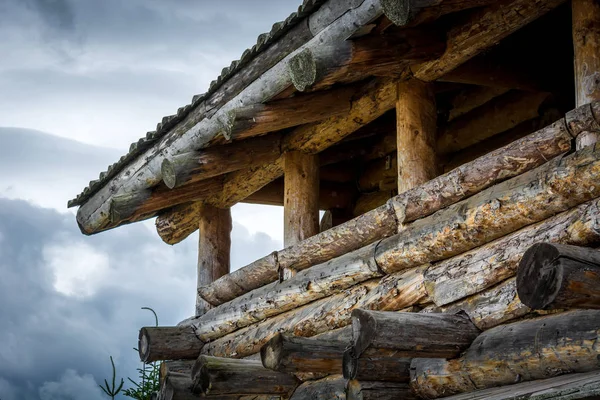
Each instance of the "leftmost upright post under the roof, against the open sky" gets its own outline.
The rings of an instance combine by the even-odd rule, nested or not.
[[[229,273],[231,250],[231,209],[203,204],[200,209],[198,242],[198,288]],[[196,315],[202,315],[210,304],[196,295]]]

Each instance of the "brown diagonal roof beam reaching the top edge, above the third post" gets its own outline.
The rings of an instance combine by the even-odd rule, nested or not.
[[[447,32],[446,52],[437,60],[412,67],[417,79],[434,81],[482,50],[562,4],[564,0],[514,0],[495,2],[475,10],[467,22]]]

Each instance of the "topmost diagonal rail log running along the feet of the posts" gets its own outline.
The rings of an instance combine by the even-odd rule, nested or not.
[[[224,277],[221,279],[222,282],[219,280],[212,285],[213,287],[203,293],[203,296],[212,304],[221,304],[243,293],[239,290],[232,291],[231,288],[240,285],[246,288],[251,287],[245,285],[244,282],[258,285],[252,287],[255,289],[275,280],[272,277],[276,276],[278,265],[281,267],[294,266],[296,269],[308,268],[353,251],[366,243],[390,236],[396,232],[398,223],[404,224],[426,217],[569,151],[571,140],[572,137],[568,133],[565,119],[557,121],[526,138],[437,177],[426,185],[405,192],[390,204],[373,209],[297,246],[279,251],[267,269],[262,264],[243,267],[234,272],[236,274],[235,284],[229,282],[233,278]],[[440,188],[444,189],[440,190]],[[391,197],[391,193],[388,197]],[[429,201],[424,202],[422,199]],[[392,210],[395,210],[395,216],[391,212]],[[230,276],[232,277],[233,274]],[[260,280],[258,277],[264,277],[264,280]]]

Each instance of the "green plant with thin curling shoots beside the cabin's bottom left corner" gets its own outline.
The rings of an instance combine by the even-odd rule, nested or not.
[[[156,312],[150,307],[142,307],[142,310],[151,311],[152,314],[154,314],[155,326],[158,326],[158,315],[156,315]],[[138,349],[136,349],[135,347],[133,348],[133,350],[135,350],[135,352],[138,352]],[[112,387],[109,387],[108,381],[106,379],[104,380],[106,388],[104,388],[101,385],[99,386],[107,396],[114,400],[115,396],[121,392],[124,382],[121,378],[121,383],[117,388],[115,388],[117,371],[112,356],[110,357],[110,362],[113,368]],[[127,379],[133,384],[133,387],[125,389],[123,391],[123,395],[136,400],[150,400],[152,394],[157,392],[160,388],[160,365],[156,362],[152,364],[143,363],[141,368],[137,368],[137,371],[137,382],[128,377]]]

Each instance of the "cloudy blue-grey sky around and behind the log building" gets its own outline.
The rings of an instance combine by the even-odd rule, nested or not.
[[[153,222],[79,233],[66,201],[204,92],[299,0],[0,0],[0,399],[104,398],[137,331],[194,309],[196,241]],[[233,267],[281,247],[282,211],[236,206]]]

